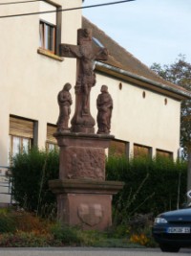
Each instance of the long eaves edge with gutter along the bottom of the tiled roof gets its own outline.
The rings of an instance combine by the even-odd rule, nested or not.
[[[123,76],[126,76],[126,77],[136,79],[138,81],[143,81],[143,82],[146,82],[146,83],[150,83],[152,85],[155,85],[155,86],[159,87],[162,90],[167,90],[169,92],[176,93],[176,94],[180,95],[181,97],[183,97],[184,99],[191,99],[191,92],[189,92],[187,90],[181,90],[177,87],[171,87],[167,84],[164,84],[164,83],[161,83],[161,82],[158,82],[158,81],[153,81],[153,80],[147,79],[147,78],[142,77],[142,76],[138,76],[138,75],[133,74],[129,71],[117,68],[115,66],[111,66],[111,65],[103,63],[103,62],[96,61],[96,66],[100,67],[100,68],[102,67],[102,68],[110,70],[110,71],[113,71],[115,73],[118,73],[119,75],[123,75]]]

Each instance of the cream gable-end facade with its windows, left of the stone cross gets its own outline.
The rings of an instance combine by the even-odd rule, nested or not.
[[[7,202],[4,175],[10,154],[54,143],[50,134],[58,117],[57,93],[65,82],[74,84],[76,73],[75,59],[60,58],[58,47],[61,42],[75,44],[81,27],[80,10],[55,11],[81,7],[82,1],[3,2],[7,4],[0,6],[0,201]],[[24,13],[36,14],[20,15]]]

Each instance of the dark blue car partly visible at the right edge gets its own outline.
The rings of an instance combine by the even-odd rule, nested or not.
[[[159,214],[152,231],[162,251],[178,252],[180,247],[190,247],[191,208]]]

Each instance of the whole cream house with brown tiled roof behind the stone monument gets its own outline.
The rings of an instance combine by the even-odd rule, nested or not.
[[[180,149],[180,102],[191,94],[163,81],[144,64],[82,18],[82,0],[53,0],[0,6],[0,170],[4,175],[10,155],[32,145],[53,148],[58,117],[57,94],[66,82],[74,84],[76,60],[62,58],[59,44],[76,44],[77,29],[92,28],[94,43],[107,47],[109,59],[96,62],[96,86],[91,112],[96,119],[96,97],[108,85],[114,110],[111,151],[177,158]],[[76,8],[76,10],[74,10]],[[73,11],[70,11],[73,9]],[[72,106],[72,115],[74,105]],[[0,197],[1,197],[0,192]],[[7,201],[4,195],[0,201]]]

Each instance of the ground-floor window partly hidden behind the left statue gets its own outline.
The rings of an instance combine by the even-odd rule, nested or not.
[[[47,141],[46,141],[46,149],[48,151],[53,151],[57,149],[57,141],[53,136],[53,133],[56,132],[56,126],[48,124],[47,125]]]

